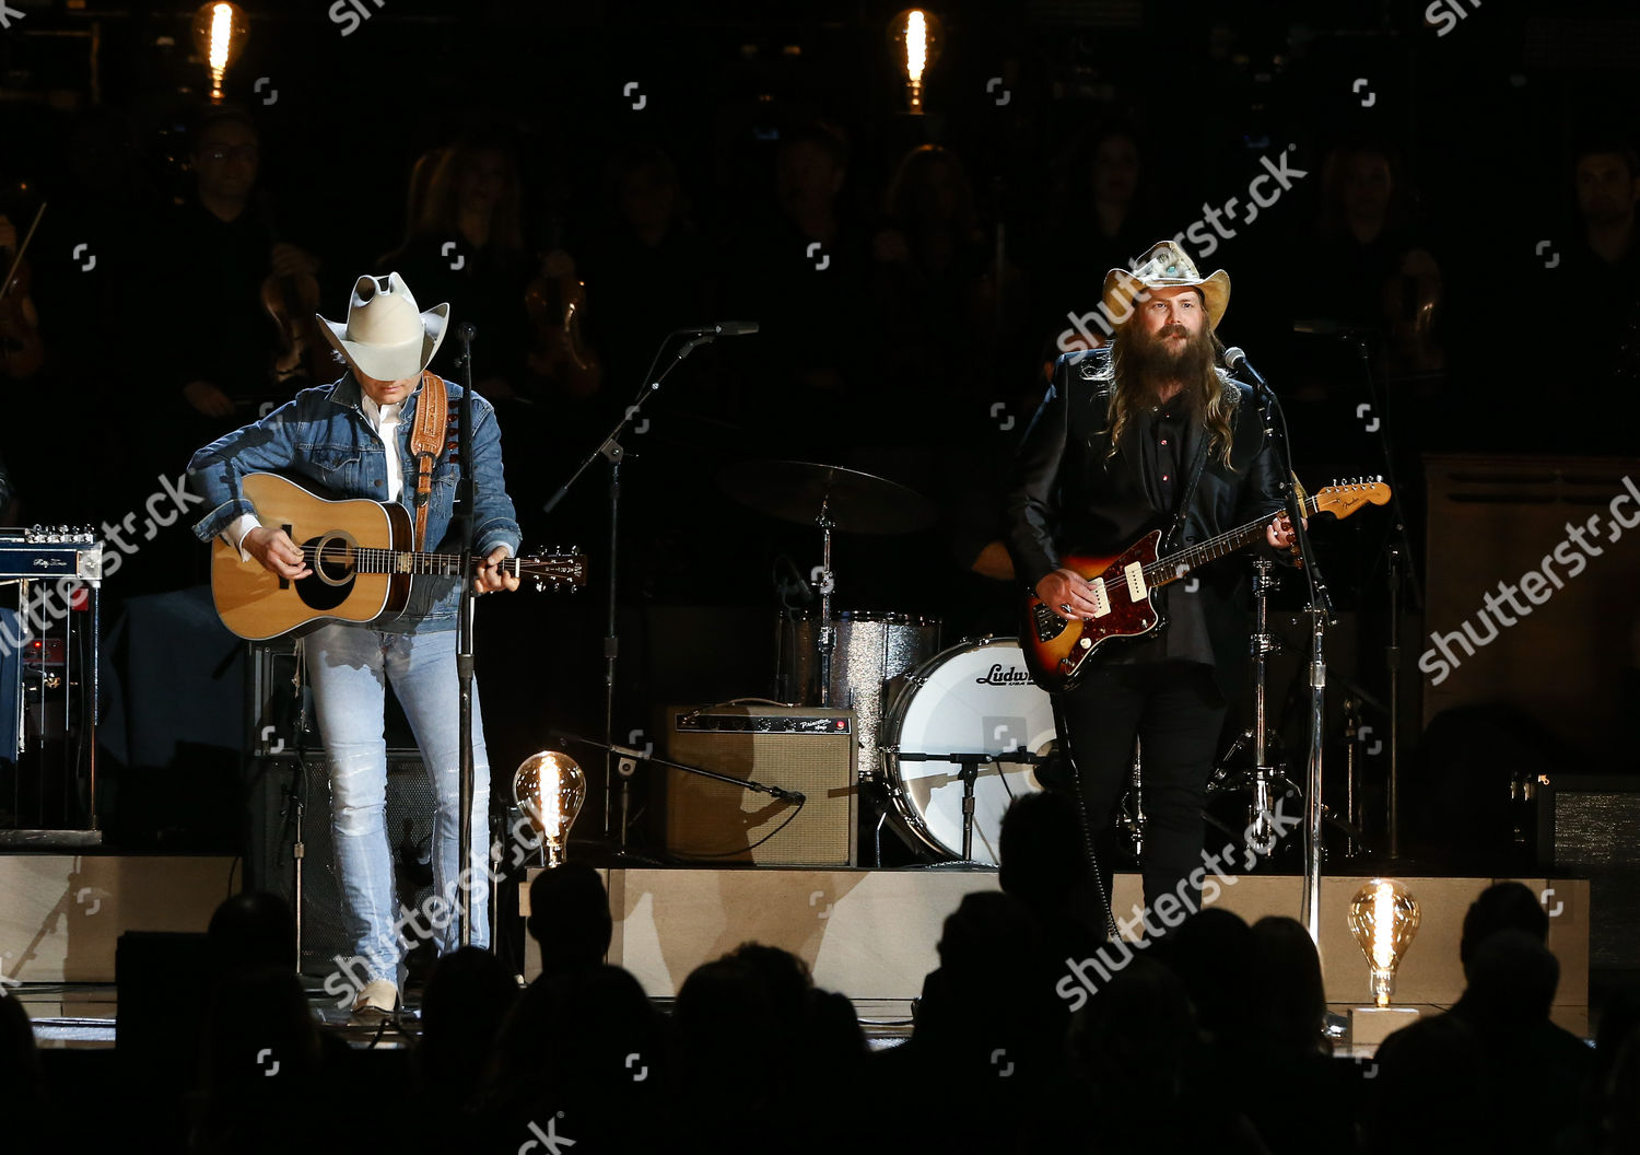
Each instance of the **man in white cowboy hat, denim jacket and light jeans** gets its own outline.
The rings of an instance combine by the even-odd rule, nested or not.
[[[461,387],[425,372],[444,340],[448,318],[449,305],[421,312],[397,272],[359,277],[348,320],[318,318],[346,363],[346,374],[335,384],[302,390],[262,420],[194,454],[189,476],[212,505],[194,532],[205,541],[221,535],[282,579],[307,578],[312,571],[302,550],[282,528],[262,525],[241,491],[248,472],[282,471],[317,481],[338,499],[400,502],[420,523],[418,550],[459,550],[459,543],[444,541],[461,472],[454,451],[444,446]],[[412,454],[412,430],[425,404],[438,410],[428,410],[426,428],[428,436],[436,431],[440,450],[418,461]],[[431,471],[430,477],[423,468]],[[518,550],[518,520],[502,476],[495,410],[482,397],[472,399],[472,479],[474,556],[481,558],[474,586],[479,592],[517,589],[518,579],[503,573],[500,563]],[[389,682],[415,732],[438,799],[435,889],[449,904],[446,911],[456,906],[461,878],[458,582],[458,578],[418,576],[400,617],[372,623],[331,622],[303,638],[308,684],[330,763],[336,866],[354,940],[354,958],[344,970],[356,989],[353,1009],[361,1017],[395,1009],[403,958],[399,942],[403,925],[395,922],[394,860],[384,822],[387,745],[382,719]],[[469,878],[484,878],[481,871],[489,868],[490,845],[490,774],[477,686],[472,694],[472,766],[469,866],[474,873]],[[479,947],[489,942],[487,894],[487,886],[471,888],[471,940]],[[440,950],[458,945],[454,919],[435,929]]]

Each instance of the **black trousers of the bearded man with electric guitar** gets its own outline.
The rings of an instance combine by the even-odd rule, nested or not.
[[[1071,751],[1096,845],[1110,829],[1127,789],[1137,737],[1145,791],[1140,863],[1145,906],[1153,909],[1156,897],[1169,891],[1200,906],[1200,881],[1191,886],[1189,876],[1202,865],[1202,806],[1227,709],[1212,666],[1197,661],[1100,666],[1061,696],[1059,709],[1068,730],[1061,738]],[[1105,856],[1099,866],[1109,894]],[[1155,917],[1150,925],[1161,927]]]

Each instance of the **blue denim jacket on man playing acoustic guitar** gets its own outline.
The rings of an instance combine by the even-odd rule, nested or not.
[[[449,395],[449,450],[433,469],[433,494],[426,510],[425,545],[443,553],[456,553],[459,545],[446,541],[451,505],[456,495],[456,402],[461,386],[444,382]],[[399,422],[399,461],[403,492],[399,500],[415,523],[415,459],[410,456],[410,433],[421,387],[405,399]],[[194,527],[202,541],[210,541],[238,517],[254,514],[239,491],[239,477],[248,472],[282,472],[292,481],[317,481],[330,497],[371,497],[385,500],[387,456],[382,440],[359,409],[362,394],[353,372],[330,386],[303,389],[262,420],[216,438],[189,461],[189,479],[212,509]],[[472,397],[474,461],[474,553],[485,556],[499,545],[518,551],[522,533],[502,476],[502,438],[494,407]],[[418,574],[410,587],[405,612],[372,628],[392,633],[420,630],[453,630],[461,587],[456,578]]]

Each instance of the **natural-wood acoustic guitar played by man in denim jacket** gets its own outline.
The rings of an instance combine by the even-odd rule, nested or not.
[[[313,573],[289,581],[221,538],[212,546],[210,586],[221,623],[251,641],[307,633],[325,622],[397,617],[418,576],[454,576],[459,553],[413,550],[410,514],[397,502],[326,500],[271,472],[246,474],[241,489],[262,525],[290,535]],[[474,564],[482,561],[472,559]],[[585,555],[576,550],[508,558],[503,568],[536,589],[581,589]]]

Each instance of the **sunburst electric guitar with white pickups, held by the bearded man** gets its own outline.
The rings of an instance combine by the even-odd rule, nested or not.
[[[1328,486],[1304,499],[1304,514],[1305,517],[1332,514],[1343,518],[1363,505],[1383,505],[1387,500],[1389,486],[1383,482]],[[1109,641],[1138,638],[1163,625],[1163,615],[1150,600],[1151,591],[1179,581],[1197,566],[1253,545],[1264,536],[1266,525],[1269,525],[1268,517],[1248,522],[1166,558],[1156,556],[1161,548],[1161,530],[1151,530],[1114,556],[1061,558],[1063,568],[1074,569],[1094,587],[1092,600],[1099,609],[1086,622],[1068,622],[1035,594],[1027,596],[1020,648],[1025,651],[1032,681],[1048,692],[1071,689],[1081,673],[1091,668],[1089,660]]]

